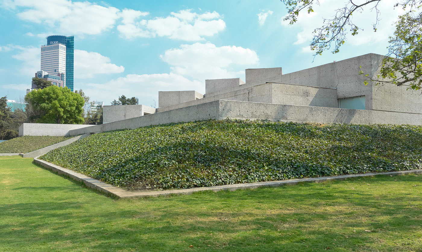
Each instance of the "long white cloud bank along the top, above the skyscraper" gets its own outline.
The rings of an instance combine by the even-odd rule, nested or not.
[[[116,27],[120,36],[127,39],[166,36],[171,39],[199,41],[226,27],[222,16],[215,11],[197,14],[188,9],[171,12],[165,18],[139,20],[149,15],[149,12],[127,8],[119,10],[111,6],[71,0],[7,0],[1,6],[17,11],[19,19],[46,25],[46,29],[52,33],[78,36],[101,34]],[[33,33],[26,35],[35,36]],[[43,34],[37,36],[41,35]]]

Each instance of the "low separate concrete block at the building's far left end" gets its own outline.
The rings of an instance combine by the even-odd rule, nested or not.
[[[103,123],[154,114],[155,108],[145,105],[116,105],[103,107]]]

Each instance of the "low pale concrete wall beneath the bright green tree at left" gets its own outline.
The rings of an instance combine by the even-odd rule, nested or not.
[[[84,124],[22,123],[19,136],[65,136],[69,130],[86,128]]]

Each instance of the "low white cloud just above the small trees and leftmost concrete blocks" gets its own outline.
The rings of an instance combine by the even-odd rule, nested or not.
[[[128,74],[104,84],[89,83],[82,88],[92,100],[108,102],[121,95],[138,97],[139,103],[151,105],[154,99],[158,106],[158,91],[200,90],[202,82],[189,80],[178,74]],[[118,91],[116,91],[118,90]]]

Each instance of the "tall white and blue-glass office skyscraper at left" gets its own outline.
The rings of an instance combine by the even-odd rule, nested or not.
[[[46,37],[41,46],[41,71],[63,77],[65,86],[73,92],[73,36],[53,35]]]

